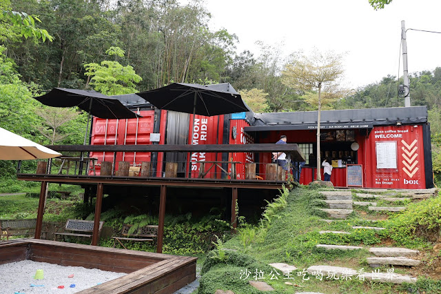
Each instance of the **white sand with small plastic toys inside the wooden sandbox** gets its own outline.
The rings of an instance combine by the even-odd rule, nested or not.
[[[42,269],[43,280],[34,280],[37,269]],[[68,277],[68,275],[74,277]],[[0,264],[0,292],[14,293],[76,293],[96,284],[108,282],[125,273],[101,271],[96,268],[83,268],[82,266],[59,266],[46,262],[32,262],[23,260]],[[44,287],[31,287],[30,285],[44,285]],[[74,288],[70,285],[75,284]],[[63,285],[63,289],[57,288]]]

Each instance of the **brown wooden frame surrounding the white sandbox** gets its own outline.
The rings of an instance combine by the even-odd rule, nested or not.
[[[196,257],[42,239],[19,239],[0,243],[0,264],[24,259],[127,273],[118,279],[77,292],[81,294],[174,293],[196,280]]]

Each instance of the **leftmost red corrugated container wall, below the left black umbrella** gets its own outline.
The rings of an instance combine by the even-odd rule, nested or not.
[[[150,133],[154,128],[154,110],[142,110],[138,119],[101,119],[94,117],[94,128],[92,129],[92,145],[147,145],[150,142]],[[166,112],[161,111],[161,141],[165,140],[165,116]],[[164,125],[164,126],[163,126]],[[114,153],[112,152],[91,152],[90,157],[97,157],[98,164],[101,161],[113,161]],[[130,161],[131,166],[141,166],[141,162],[150,161],[150,153],[116,153],[116,162]],[[158,162],[161,162],[161,153],[158,155]],[[161,167],[161,164],[158,165]],[[100,166],[96,166],[96,173],[99,175]],[[115,170],[118,170],[116,164]],[[158,170],[160,174],[161,170]]]

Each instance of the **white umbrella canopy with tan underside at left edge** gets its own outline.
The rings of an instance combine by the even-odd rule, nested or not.
[[[45,159],[61,153],[0,128],[0,160]]]

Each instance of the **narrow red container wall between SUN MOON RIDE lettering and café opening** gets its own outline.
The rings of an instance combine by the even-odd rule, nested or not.
[[[229,144],[254,144],[254,138],[243,130],[249,126],[244,119],[230,119],[229,121]],[[236,132],[234,136],[233,132]],[[245,179],[245,163],[254,162],[254,153],[229,153],[229,161],[237,161],[236,164],[236,178]],[[228,166],[228,171],[231,171],[231,164]]]

